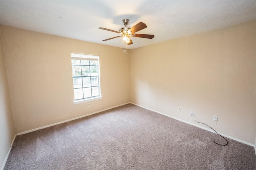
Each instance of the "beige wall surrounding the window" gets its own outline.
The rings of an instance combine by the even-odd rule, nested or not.
[[[4,25],[1,31],[17,133],[129,102],[123,49]],[[103,98],[90,107],[73,104],[71,52],[100,56]]]

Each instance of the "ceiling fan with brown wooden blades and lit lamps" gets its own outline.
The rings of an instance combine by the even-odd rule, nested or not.
[[[112,38],[109,38],[109,39],[104,39],[102,41],[107,41],[107,40],[110,40],[110,39],[114,39],[114,38],[118,38],[118,37],[123,37],[123,41],[125,41],[126,45],[131,45],[132,44],[131,37],[149,38],[149,39],[154,38],[154,35],[150,35],[150,34],[137,34],[136,33],[137,31],[140,31],[140,30],[142,30],[142,29],[147,27],[147,25],[145,23],[139,22],[136,25],[134,25],[132,28],[130,28],[130,27],[127,27],[128,23],[129,23],[128,19],[124,19],[122,21],[123,21],[124,27],[120,28],[119,32],[111,30],[111,29],[99,27],[99,29],[104,29],[106,31],[112,31],[112,32],[121,34],[120,36],[112,37]]]

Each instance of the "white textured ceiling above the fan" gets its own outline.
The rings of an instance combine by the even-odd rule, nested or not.
[[[122,20],[128,27],[142,21],[132,37],[134,49],[256,19],[256,0],[0,0],[0,23],[12,27],[125,48],[119,34]]]

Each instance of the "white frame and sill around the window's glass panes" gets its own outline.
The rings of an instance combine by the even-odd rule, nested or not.
[[[82,99],[77,99],[73,101],[74,104],[80,104],[80,103],[84,103],[84,102],[90,102],[93,100],[100,100],[102,99],[101,93],[100,93],[100,59],[98,55],[88,55],[88,54],[80,54],[80,53],[71,53],[71,66],[73,66],[72,64],[72,60],[88,60],[88,61],[98,61],[98,90],[99,90],[99,96],[93,96],[93,97],[89,97],[89,98],[82,98]],[[77,65],[77,66],[81,66]],[[76,77],[76,76],[75,76]],[[81,77],[86,77],[86,76],[81,76]],[[72,82],[74,80],[73,77],[73,69],[72,69]],[[82,87],[83,88],[83,87]],[[91,86],[92,88],[92,86]],[[73,92],[74,92],[74,82],[73,82]],[[74,98],[75,98],[75,94],[74,94]]]

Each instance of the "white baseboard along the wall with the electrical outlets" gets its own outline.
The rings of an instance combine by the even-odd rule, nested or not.
[[[130,102],[130,104],[134,104],[134,103],[131,103],[131,102]],[[134,104],[134,105],[139,106],[139,107],[142,107],[142,108],[144,108],[144,109],[148,109],[148,110],[154,111],[154,112],[159,113],[159,114],[161,114],[161,115],[165,115],[165,116],[171,117],[171,118],[176,119],[176,120],[178,120],[178,121],[182,121],[182,122],[184,122],[184,123],[188,123],[188,124],[190,124],[190,125],[193,125],[193,126],[199,127],[199,128],[201,128],[201,129],[205,129],[205,130],[207,130],[207,131],[210,131],[210,132],[216,133],[216,132],[215,132],[215,131],[213,131],[212,129],[208,129],[208,128],[205,128],[205,127],[202,127],[202,126],[196,125],[196,124],[194,124],[194,123],[190,123],[190,122],[188,122],[188,121],[184,121],[184,120],[182,120],[182,119],[178,119],[178,118],[176,118],[176,117],[173,117],[173,116],[170,116],[170,115],[166,115],[166,114],[161,113],[161,112],[159,112],[159,111],[156,111],[156,110],[153,110],[153,109],[150,109],[150,108],[144,107],[144,106],[140,106],[140,105],[138,105],[138,104]],[[219,132],[218,132],[218,133],[219,133]],[[224,136],[224,137],[227,137],[227,138],[229,138],[229,139],[233,139],[233,140],[235,140],[235,141],[238,141],[238,142],[241,142],[241,143],[244,143],[244,144],[246,144],[246,145],[249,145],[249,146],[254,147],[255,154],[256,154],[256,147],[255,147],[255,145],[254,145],[254,144],[252,144],[252,143],[248,143],[248,142],[246,142],[246,141],[242,141],[242,140],[240,140],[240,139],[237,139],[237,138],[231,137],[231,136],[226,135],[226,134],[223,134],[223,133],[219,133],[219,134],[220,134],[220,135],[222,135],[222,136]]]

